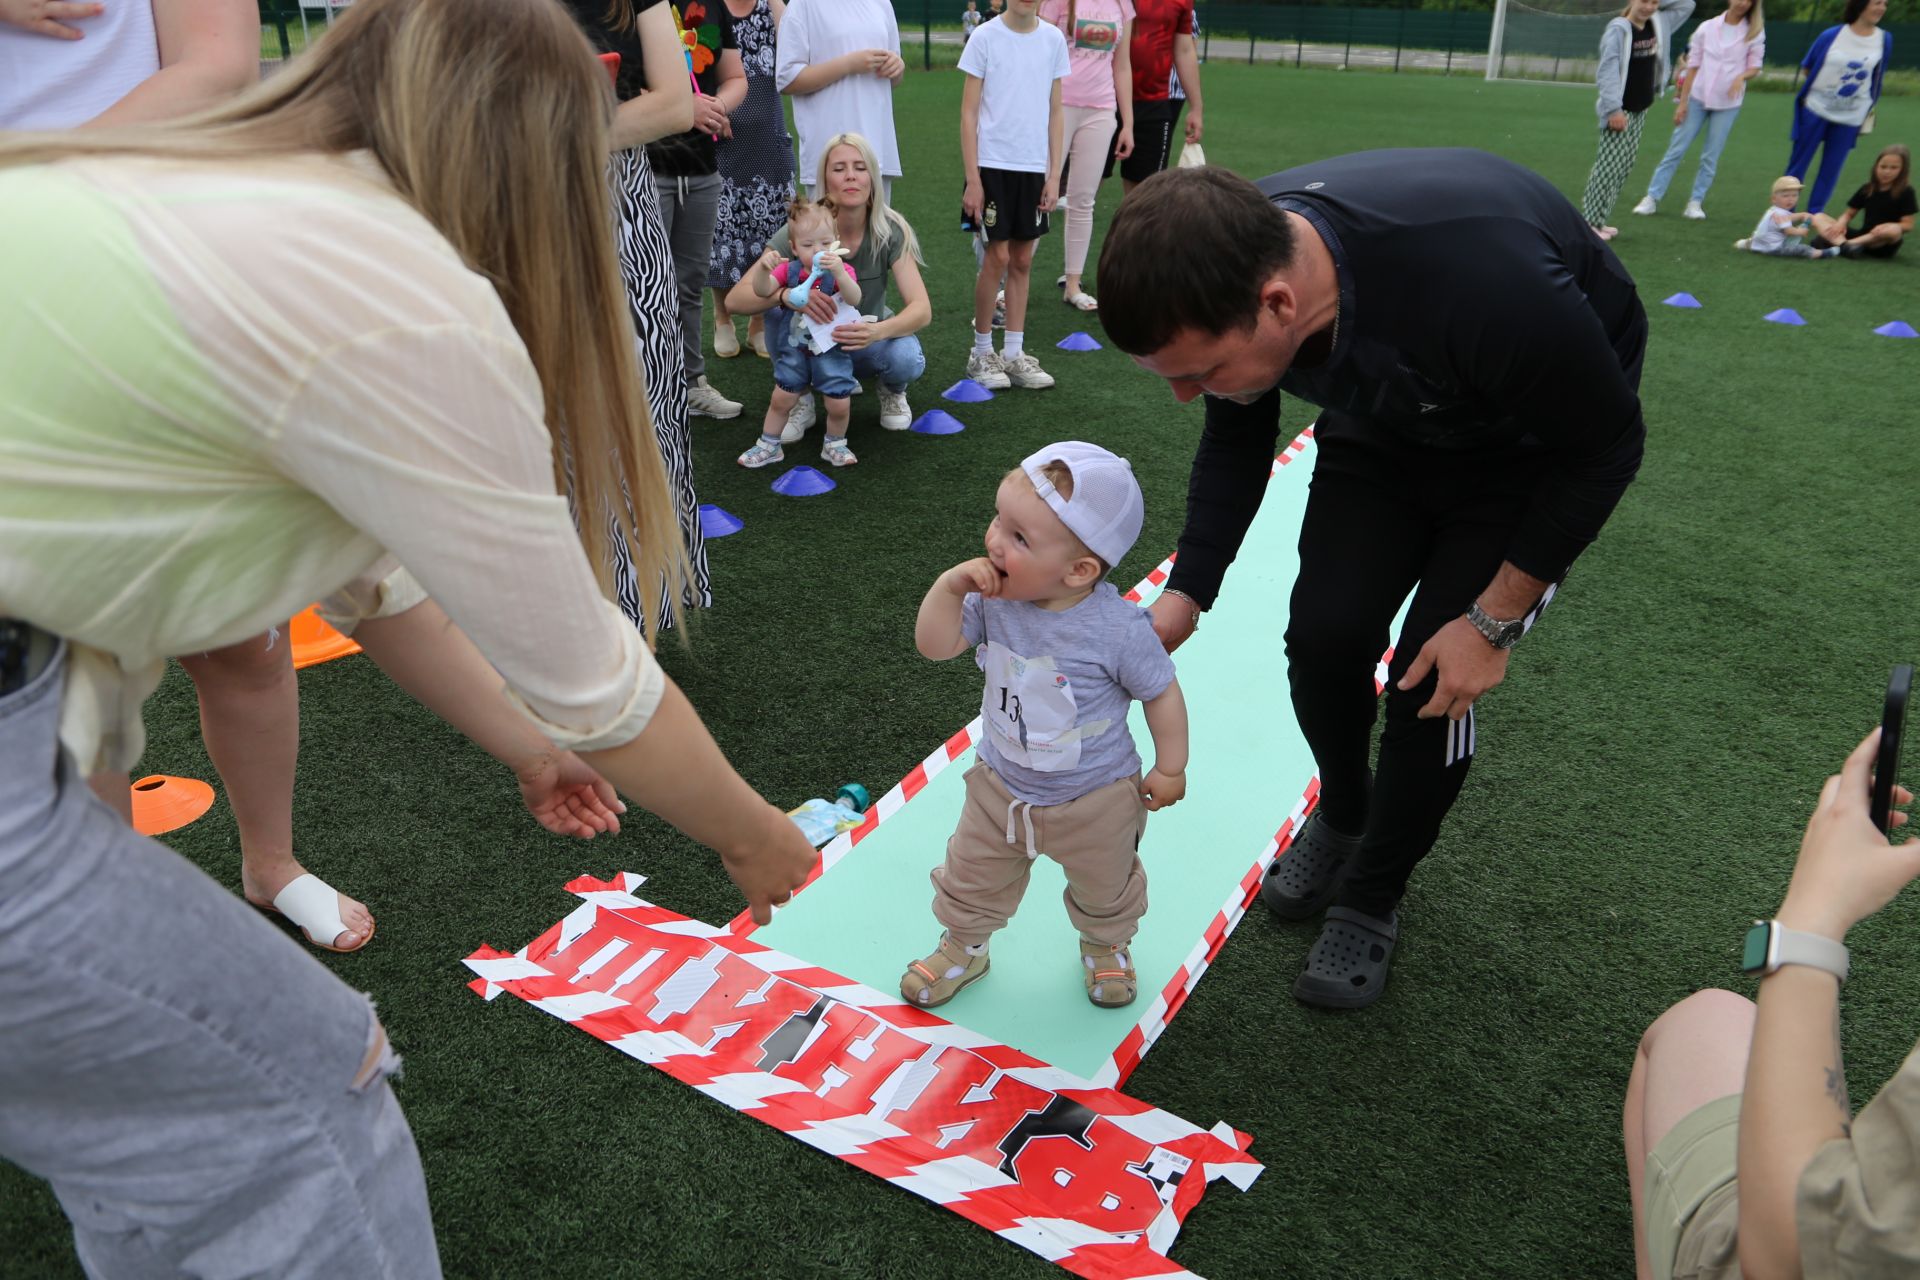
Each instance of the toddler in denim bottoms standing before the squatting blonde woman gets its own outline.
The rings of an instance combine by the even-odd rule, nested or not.
[[[768,249],[747,273],[753,292],[772,297],[780,290],[789,290],[808,278],[814,271],[814,257],[820,257],[820,274],[814,288],[824,294],[837,294],[851,307],[860,305],[860,282],[835,253],[833,238],[833,200],[822,196],[808,200],[797,196],[787,207],[787,246],[793,257],[781,257],[780,249]],[[820,441],[820,457],[829,466],[852,466],[858,459],[847,447],[849,401],[858,386],[852,376],[852,355],[839,345],[814,351],[812,332],[806,317],[785,307],[766,313],[766,345],[774,357],[774,399],[766,407],[766,420],[760,424],[760,439],[739,455],[741,466],[768,466],[787,457],[780,447],[780,432],[787,426],[787,415],[799,403],[806,388],[820,391],[828,405],[828,438]]]

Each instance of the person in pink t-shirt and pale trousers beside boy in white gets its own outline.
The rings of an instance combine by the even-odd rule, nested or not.
[[[1060,88],[1066,111],[1068,165],[1062,205],[1068,215],[1066,274],[1060,297],[1069,307],[1092,311],[1098,303],[1081,288],[1087,249],[1092,244],[1092,201],[1108,144],[1125,159],[1133,154],[1133,0],[1046,0],[1041,21],[1054,23],[1068,38],[1073,71]],[[1119,129],[1116,142],[1114,129]]]

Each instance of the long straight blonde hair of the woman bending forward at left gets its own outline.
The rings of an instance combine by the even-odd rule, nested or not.
[[[662,583],[680,597],[693,574],[612,246],[611,113],[607,73],[551,0],[359,0],[311,52],[211,111],[13,134],[0,142],[0,167],[371,152],[505,303],[540,374],[555,487],[574,501],[601,591],[612,597],[611,514],[643,593]],[[649,643],[653,631],[649,610]]]

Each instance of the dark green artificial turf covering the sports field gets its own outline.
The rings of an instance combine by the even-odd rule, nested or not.
[[[1225,63],[1206,77],[1208,155],[1252,177],[1365,146],[1478,144],[1578,196],[1592,159],[1582,90]],[[897,94],[910,167],[897,190],[935,299],[916,411],[960,376],[966,351],[956,96],[950,73],[910,75]],[[1697,986],[1751,992],[1736,973],[1740,933],[1778,904],[1818,783],[1870,727],[1887,666],[1920,654],[1903,457],[1920,342],[1868,332],[1920,322],[1912,249],[1893,263],[1732,251],[1786,157],[1786,109],[1778,96],[1749,104],[1707,223],[1624,211],[1665,146],[1649,121],[1617,219],[1653,324],[1647,464],[1480,708],[1480,758],[1413,879],[1382,1002],[1359,1015],[1294,1004],[1284,988],[1313,925],[1256,908],[1129,1080],[1187,1119],[1252,1132],[1267,1163],[1252,1192],[1202,1201],[1173,1251],[1192,1270],[1632,1267],[1619,1105],[1634,1040]],[[1866,142],[1912,140],[1916,125],[1920,106],[1887,100]],[[1849,165],[1841,198],[1870,154]],[[1692,161],[1674,190],[1690,180]],[[1098,225],[1116,200],[1108,184]],[[1056,228],[1037,255],[1029,345],[1060,386],[948,407],[968,432],[947,439],[883,434],[872,391],[856,397],[862,461],[831,495],[780,499],[770,474],[733,464],[772,370],[710,363],[747,409],[695,418],[701,499],[747,530],[712,543],[718,604],[691,651],[668,641],[662,658],[768,796],[795,804],[847,777],[887,787],[972,718],[977,674],[920,660],[912,616],[941,568],[977,553],[998,476],[1031,447],[1085,434],[1133,459],[1148,522],[1121,583],[1173,547],[1198,409],[1175,407],[1117,351],[1052,349],[1075,328],[1102,336],[1052,297],[1058,242]],[[1678,290],[1705,309],[1657,305]],[[1784,305],[1809,326],[1759,320]],[[1286,403],[1286,436],[1308,420]],[[808,443],[795,462],[812,462],[818,430]],[[1277,635],[1273,651],[1250,697],[1288,714]],[[397,1090],[449,1274],[1056,1274],[516,1000],[482,1004],[459,958],[532,938],[570,910],[561,885],[580,871],[645,871],[643,894],[716,923],[739,898],[716,860],[637,810],[616,841],[541,833],[497,766],[365,658],[305,672],[301,695],[300,848],[380,919],[367,952],[321,963],[380,998],[407,1054]],[[1192,716],[1204,731],[1204,708]],[[146,771],[213,777],[179,672],[148,723]],[[1188,804],[1219,802],[1190,781]],[[1275,821],[1294,785],[1277,779],[1265,796]],[[236,885],[225,804],[169,842]],[[1851,938],[1855,1103],[1912,1046],[1916,925],[1903,900]],[[0,1274],[77,1274],[44,1188],[0,1169]]]

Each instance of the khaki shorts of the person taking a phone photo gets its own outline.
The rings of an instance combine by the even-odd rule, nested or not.
[[[1740,1278],[1740,1094],[1680,1117],[1647,1151],[1653,1280]]]

